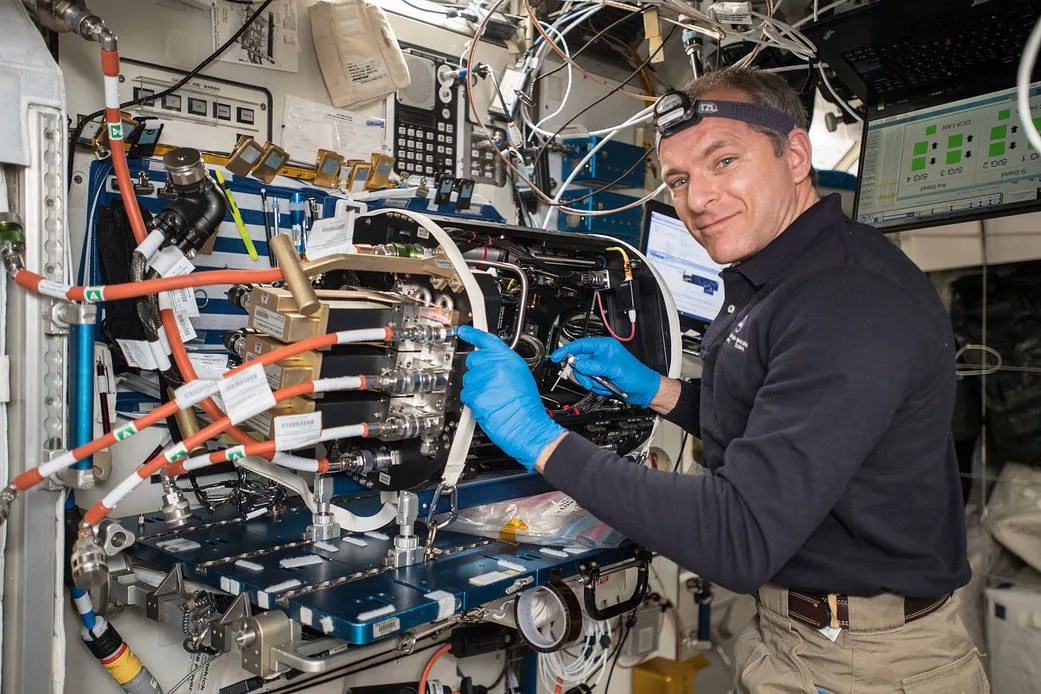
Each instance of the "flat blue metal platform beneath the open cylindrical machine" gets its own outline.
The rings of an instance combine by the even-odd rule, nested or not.
[[[520,481],[520,489],[525,489],[525,478]],[[506,493],[506,482],[479,483],[466,493],[471,497]],[[514,488],[511,495],[517,495],[517,491]],[[360,512],[356,506],[352,509]],[[134,520],[129,518],[124,522],[133,526]],[[387,570],[384,558],[392,546],[389,536],[395,529],[385,529],[387,539],[356,536],[365,542],[364,546],[334,540],[329,543],[332,549],[323,549],[300,540],[310,522],[310,514],[301,510],[283,513],[277,519],[261,517],[248,521],[236,518],[232,510],[222,511],[205,518],[196,517],[193,522],[199,526],[180,532],[168,532],[156,516],[141,520],[137,525],[141,539],[132,550],[135,556],[168,569],[180,563],[188,577],[223,590],[245,592],[260,607],[284,609],[294,619],[352,644],[372,643],[433,621],[438,603],[426,597],[433,591],[451,593],[458,610],[468,610],[515,592],[518,587],[528,589],[575,575],[589,559],[608,565],[632,557],[633,551],[631,546],[624,545],[554,557],[534,545],[442,531],[434,544],[441,550],[440,557]],[[416,533],[422,542],[425,537],[422,525]],[[251,556],[245,559],[259,570],[236,564],[237,557],[246,554]],[[321,561],[296,568],[280,564],[283,559],[304,556],[316,556]],[[502,560],[525,570],[506,571],[500,564]],[[476,576],[494,571],[505,573],[487,585],[472,583]],[[299,581],[300,586],[277,592],[268,590],[293,580]],[[294,596],[298,590],[303,592]]]

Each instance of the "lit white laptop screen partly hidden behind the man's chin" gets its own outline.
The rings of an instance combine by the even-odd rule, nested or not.
[[[709,257],[675,209],[655,201],[643,207],[643,254],[672,292],[680,327],[704,333],[722,308],[726,265]]]

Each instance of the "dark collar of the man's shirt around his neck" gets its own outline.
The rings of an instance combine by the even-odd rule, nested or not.
[[[758,289],[797,261],[826,229],[845,219],[841,198],[833,192],[795,217],[766,248],[731,269]]]

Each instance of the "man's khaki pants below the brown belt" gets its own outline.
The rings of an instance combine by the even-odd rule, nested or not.
[[[835,641],[788,616],[788,591],[765,586],[759,614],[734,645],[735,685],[751,694],[987,694],[980,653],[956,598],[904,623],[897,595],[849,598]]]

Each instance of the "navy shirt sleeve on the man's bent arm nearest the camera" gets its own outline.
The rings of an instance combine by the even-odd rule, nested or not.
[[[917,305],[864,271],[836,272],[763,322],[766,377],[715,474],[634,465],[568,434],[547,481],[710,581],[738,592],[767,583],[834,508],[921,368]]]

